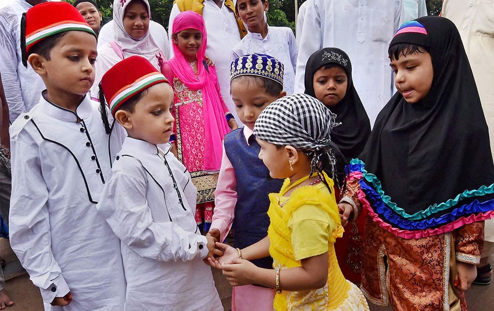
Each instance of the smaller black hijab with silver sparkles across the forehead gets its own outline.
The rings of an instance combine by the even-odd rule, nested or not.
[[[327,65],[342,67],[348,78],[345,97],[335,106],[329,107],[329,110],[336,115],[336,122],[341,123],[331,131],[331,140],[349,161],[364,150],[371,134],[371,122],[353,85],[350,58],[339,48],[326,47],[309,57],[305,67],[305,94],[316,97],[314,73]]]

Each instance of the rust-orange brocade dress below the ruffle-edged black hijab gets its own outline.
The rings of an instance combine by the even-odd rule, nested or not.
[[[352,198],[359,209],[362,207],[359,197],[365,194],[360,190],[358,177],[350,175],[344,195]],[[463,294],[450,290],[455,275],[450,269],[455,261],[479,263],[483,221],[453,232],[413,239],[389,233],[370,216],[366,216],[365,228],[361,289],[371,303],[391,303],[393,310],[398,311],[450,310],[449,303],[459,298],[464,306]]]

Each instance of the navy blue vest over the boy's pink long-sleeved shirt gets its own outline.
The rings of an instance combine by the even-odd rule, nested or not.
[[[261,147],[254,137],[247,145],[244,129],[239,128],[225,136],[225,152],[237,178],[237,205],[235,206],[235,246],[247,247],[267,235],[270,193],[278,193],[283,180],[273,179],[269,170],[257,156]],[[257,267],[273,269],[273,259],[266,257],[253,260]]]

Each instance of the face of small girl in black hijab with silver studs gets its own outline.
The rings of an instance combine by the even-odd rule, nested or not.
[[[345,97],[348,78],[341,66],[333,66],[329,69],[325,69],[325,67],[319,68],[314,73],[312,83],[316,98],[327,107],[331,107],[338,104]]]

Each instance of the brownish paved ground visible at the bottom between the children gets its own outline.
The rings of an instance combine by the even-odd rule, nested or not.
[[[7,279],[5,288],[10,298],[15,301],[15,305],[7,308],[7,311],[42,311],[43,305],[40,292],[20,267],[8,245],[7,239],[0,238],[0,256],[5,258],[7,262],[7,266],[4,269]],[[231,309],[231,286],[220,271],[214,270],[213,276],[223,307],[228,311]],[[489,286],[474,285],[466,296],[469,311],[494,310],[494,282]],[[391,311],[392,309],[371,307],[371,310]]]

